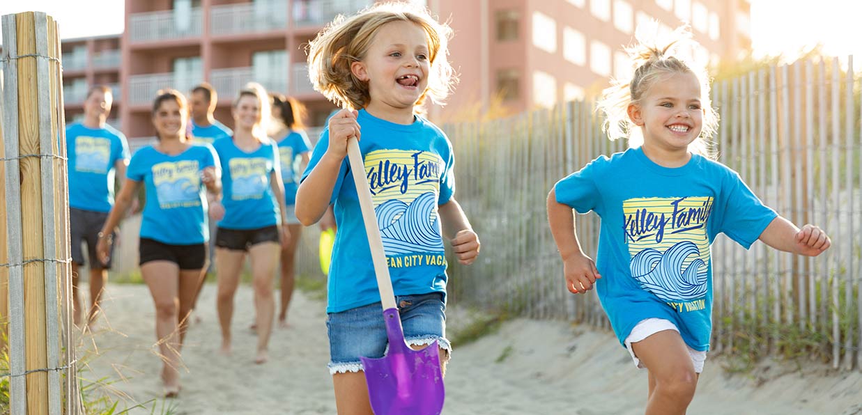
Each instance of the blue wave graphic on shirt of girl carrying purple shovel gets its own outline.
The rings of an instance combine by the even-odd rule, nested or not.
[[[437,215],[434,214],[436,204],[436,195],[428,192],[409,205],[393,199],[374,209],[387,255],[444,250]]]

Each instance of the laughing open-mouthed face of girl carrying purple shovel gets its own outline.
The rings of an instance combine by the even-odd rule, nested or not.
[[[381,115],[409,112],[428,87],[428,35],[412,22],[389,22],[378,28],[365,58],[351,70],[368,83],[367,108]],[[375,111],[376,110],[376,111]]]

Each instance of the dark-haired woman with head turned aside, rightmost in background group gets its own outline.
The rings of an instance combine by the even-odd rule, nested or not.
[[[284,182],[284,204],[287,205],[287,227],[290,240],[281,250],[281,304],[278,308],[278,325],[287,326],[287,308],[293,294],[294,258],[303,226],[294,214],[299,176],[309,164],[311,143],[303,131],[305,108],[297,100],[281,94],[270,94],[272,100],[271,137],[278,142],[281,160],[281,179]]]

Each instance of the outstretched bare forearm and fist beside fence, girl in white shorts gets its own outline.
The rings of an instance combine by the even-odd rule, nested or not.
[[[816,257],[832,245],[832,241],[821,228],[806,225],[799,229],[790,220],[781,216],[777,216],[769,226],[766,226],[766,229],[760,233],[760,240],[778,251],[806,257]]]

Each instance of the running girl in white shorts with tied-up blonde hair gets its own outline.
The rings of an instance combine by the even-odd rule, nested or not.
[[[664,45],[628,50],[636,69],[604,91],[609,138],[632,148],[599,157],[560,180],[547,199],[566,288],[594,285],[620,343],[649,372],[647,414],[683,414],[695,393],[712,329],[709,245],[723,232],[746,248],[758,238],[780,251],[817,256],[819,227],[802,229],[765,207],[739,175],[704,149],[718,123],[709,78]],[[640,139],[642,138],[642,145]],[[637,144],[636,144],[637,142]],[[572,208],[602,218],[597,260],[581,251]]]

